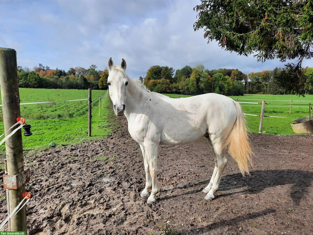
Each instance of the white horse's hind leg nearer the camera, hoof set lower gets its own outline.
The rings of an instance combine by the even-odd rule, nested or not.
[[[222,149],[222,141],[219,138],[214,138],[211,136],[211,141],[213,145],[213,149],[216,155],[217,160],[217,171],[213,180],[212,187],[208,194],[204,197],[206,200],[212,200],[214,198],[214,193],[218,190],[219,182],[221,180],[223,171],[227,164],[227,159],[225,155],[225,150]]]

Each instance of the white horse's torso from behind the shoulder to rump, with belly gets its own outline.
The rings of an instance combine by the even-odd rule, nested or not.
[[[164,98],[154,109],[162,129],[161,144],[192,143],[207,133],[229,132],[237,116],[233,100],[215,93]]]

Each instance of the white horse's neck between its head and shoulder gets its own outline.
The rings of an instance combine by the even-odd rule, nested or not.
[[[141,88],[134,81],[128,83],[127,96],[125,101],[125,116],[127,120],[133,117],[133,114],[142,113],[145,109],[145,103],[150,96],[150,92]]]

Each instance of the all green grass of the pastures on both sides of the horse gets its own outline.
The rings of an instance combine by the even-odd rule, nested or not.
[[[82,99],[88,97],[87,90],[62,90],[62,89],[28,89],[20,88],[21,102],[40,102],[40,101],[60,101]],[[104,91],[92,91],[92,99],[95,100],[102,96]],[[165,94],[172,98],[190,97],[187,95]],[[313,101],[313,95],[298,97],[292,95],[245,95],[238,98],[243,102],[261,102],[265,100],[269,105],[265,107],[265,115],[284,116],[284,117],[306,117],[309,115],[308,101]],[[253,99],[253,100],[244,100]],[[292,113],[289,114],[290,99],[293,100]],[[287,100],[287,101],[280,101]],[[312,102],[313,103],[313,102]],[[305,108],[303,105],[306,104]],[[21,105],[21,116],[26,118],[26,122],[32,125],[32,136],[23,137],[23,149],[41,150],[51,148],[62,144],[76,144],[82,141],[104,138],[111,133],[114,120],[117,120],[112,109],[106,107],[110,105],[109,98],[106,99],[103,109],[100,108],[100,116],[95,102],[92,110],[92,136],[87,136],[88,119],[87,116],[88,101],[78,102],[59,102],[56,104],[43,105]],[[259,114],[261,105],[241,103],[245,113]],[[100,103],[101,106],[101,103]],[[283,106],[283,107],[275,107]],[[2,109],[0,109],[2,112]],[[112,118],[109,119],[109,116]],[[2,118],[2,113],[0,114]],[[59,119],[52,119],[59,118]],[[259,117],[246,116],[247,125],[251,132],[258,132]],[[42,119],[42,120],[32,120]],[[113,120],[113,121],[110,121]],[[263,131],[270,134],[294,134],[290,122],[295,118],[264,118]],[[110,123],[109,123],[110,122]],[[0,123],[0,133],[3,133],[3,123]],[[0,146],[0,153],[5,153],[5,144]],[[104,159],[99,159],[104,160]],[[0,164],[1,165],[1,164]],[[1,167],[0,167],[1,168]]]

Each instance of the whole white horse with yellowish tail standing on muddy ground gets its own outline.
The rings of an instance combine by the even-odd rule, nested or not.
[[[128,131],[140,145],[145,171],[146,187],[140,196],[149,196],[147,203],[156,201],[157,153],[160,144],[189,144],[202,137],[208,139],[213,150],[215,167],[208,186],[203,189],[207,200],[214,192],[227,164],[225,149],[237,161],[239,170],[249,174],[248,161],[253,155],[246,133],[244,114],[231,98],[210,93],[183,99],[172,99],[146,89],[125,73],[121,66],[108,61],[108,86],[113,109],[117,116],[125,114]]]

